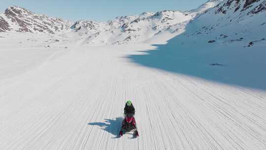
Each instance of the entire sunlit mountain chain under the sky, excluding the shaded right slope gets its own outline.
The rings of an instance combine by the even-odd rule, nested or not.
[[[107,22],[80,20],[75,23],[33,13],[10,6],[0,14],[0,32],[66,33],[71,31],[76,41],[95,44],[123,44],[155,38],[167,40],[184,31],[197,14],[215,6],[221,0],[209,0],[191,11],[164,10],[143,12],[135,16],[120,16]]]

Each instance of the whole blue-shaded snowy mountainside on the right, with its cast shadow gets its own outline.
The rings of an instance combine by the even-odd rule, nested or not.
[[[226,0],[135,63],[230,85],[266,90],[266,0]]]

